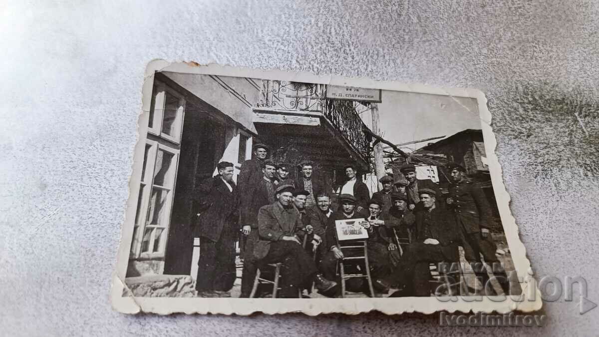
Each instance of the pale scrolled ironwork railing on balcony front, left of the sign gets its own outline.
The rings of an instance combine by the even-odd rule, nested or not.
[[[314,83],[262,80],[258,107],[322,112],[325,85]]]

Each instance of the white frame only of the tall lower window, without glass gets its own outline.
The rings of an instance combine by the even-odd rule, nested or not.
[[[146,144],[150,145],[151,148],[148,151],[147,163],[146,163],[146,171],[144,176],[141,177],[140,181],[140,189],[141,191],[141,205],[140,205],[140,213],[137,215],[137,223],[135,224],[135,236],[133,237],[133,242],[131,246],[131,258],[140,258],[144,260],[152,260],[158,258],[164,258],[165,250],[167,246],[167,237],[168,230],[170,228],[171,222],[171,211],[173,209],[173,199],[174,199],[174,190],[177,181],[177,170],[179,169],[179,150],[175,148],[171,148],[170,146],[163,145],[155,140],[146,140]],[[156,157],[158,151],[168,152],[173,155],[171,159],[171,167],[173,171],[173,178],[170,182],[169,186],[159,186],[154,184],[154,174],[156,169]],[[164,204],[164,223],[160,225],[149,224],[148,212],[150,210],[150,199],[152,198],[152,190],[154,188],[159,188],[164,191],[167,191],[167,196],[165,198]],[[160,242],[159,242],[159,251],[153,252],[141,252],[141,246],[143,244],[143,236],[146,231],[146,228],[163,228]],[[156,230],[152,231],[150,234],[150,250],[153,249],[155,243],[155,233]]]

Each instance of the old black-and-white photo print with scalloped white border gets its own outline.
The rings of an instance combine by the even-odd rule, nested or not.
[[[117,311],[541,308],[482,92],[152,61],[142,100]]]

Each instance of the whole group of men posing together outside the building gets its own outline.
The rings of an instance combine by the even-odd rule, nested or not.
[[[253,149],[237,185],[233,164],[221,162],[219,174],[197,189],[198,296],[231,296],[240,231],[240,297],[250,297],[257,270],[272,263],[281,263],[280,297],[301,296],[312,284],[320,293],[335,296],[338,263],[356,254],[344,249],[337,237],[335,221],[343,219],[362,219],[359,225],[368,232],[368,265],[377,293],[398,288],[393,296],[429,296],[429,263],[458,262],[458,246],[464,247],[483,285],[488,281],[485,263],[498,261],[488,230],[491,209],[461,166],[450,167],[453,184],[441,203],[437,186],[416,179],[413,165],[402,167],[401,177],[382,177],[383,189],[370,197],[355,166],[345,167],[346,182],[333,190],[313,178],[311,161],[299,164],[301,177],[294,181],[289,164],[267,159],[268,146]],[[337,195],[335,210],[331,192]],[[505,272],[494,272],[509,293]]]

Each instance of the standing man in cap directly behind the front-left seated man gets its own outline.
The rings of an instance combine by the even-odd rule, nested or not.
[[[256,261],[254,258],[254,246],[259,240],[258,236],[258,211],[260,207],[274,203],[274,171],[275,165],[272,160],[262,161],[262,177],[254,186],[252,194],[241,196],[241,224],[243,234],[247,236],[246,247],[243,252],[243,272],[241,274],[241,297],[249,297],[256,276]],[[248,229],[249,228],[249,229]]]

